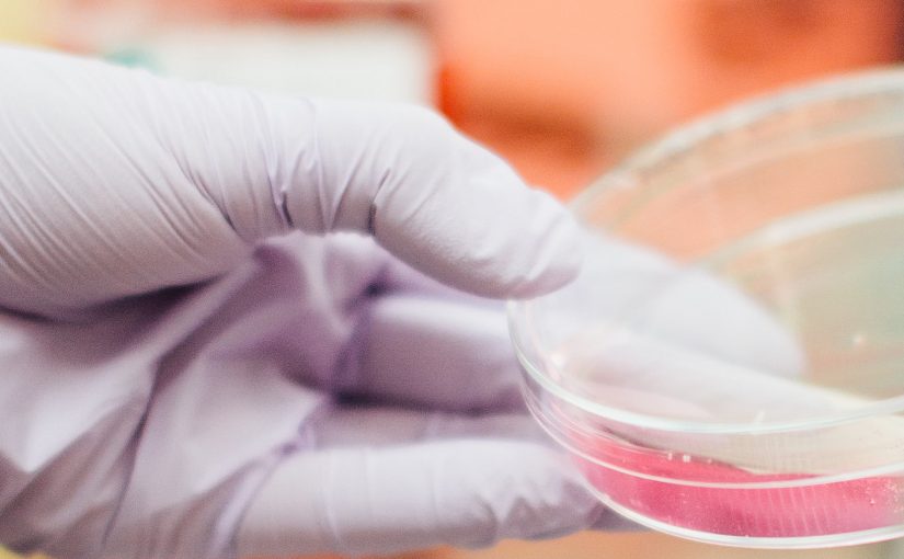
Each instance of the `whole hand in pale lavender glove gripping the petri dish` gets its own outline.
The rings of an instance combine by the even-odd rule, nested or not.
[[[501,306],[458,290],[580,261],[497,158],[424,110],[15,48],[0,75],[0,541],[370,552],[610,522],[524,414]]]

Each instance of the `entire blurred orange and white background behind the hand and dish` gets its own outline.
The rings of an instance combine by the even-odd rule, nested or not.
[[[433,106],[567,199],[682,122],[904,59],[904,0],[0,0],[0,41],[187,79]],[[749,551],[588,533],[405,557],[900,558],[904,547]]]

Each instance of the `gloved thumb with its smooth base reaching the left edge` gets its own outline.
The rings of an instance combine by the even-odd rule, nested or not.
[[[427,110],[15,48],[0,49],[0,305],[54,313],[197,282],[293,228],[373,233],[488,296],[536,295],[576,272],[559,204]]]

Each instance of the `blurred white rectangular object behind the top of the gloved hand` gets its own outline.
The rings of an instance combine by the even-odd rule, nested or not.
[[[178,78],[298,95],[434,99],[430,37],[403,21],[169,27],[124,47]]]

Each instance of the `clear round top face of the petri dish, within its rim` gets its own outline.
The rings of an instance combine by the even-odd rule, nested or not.
[[[899,69],[678,129],[572,203],[586,264],[510,304],[518,358],[600,421],[751,434],[881,417],[904,432],[902,187]]]

